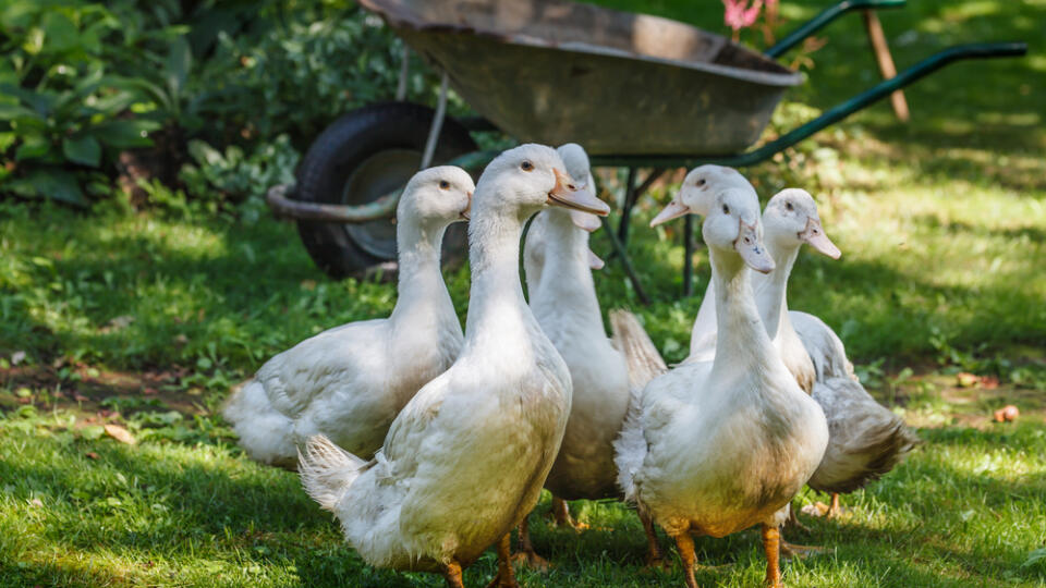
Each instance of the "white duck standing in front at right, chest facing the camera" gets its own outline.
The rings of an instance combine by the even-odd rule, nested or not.
[[[749,268],[768,273],[775,264],[763,244],[758,198],[728,188],[700,205],[692,210],[705,217],[716,285],[715,356],[664,371],[634,317],[611,316],[630,371],[653,377],[633,388],[615,443],[619,485],[676,540],[688,587],[697,586],[692,535],[725,537],[755,525],[766,583],[780,587],[780,525],[820,463],[828,425],[759,318]]]

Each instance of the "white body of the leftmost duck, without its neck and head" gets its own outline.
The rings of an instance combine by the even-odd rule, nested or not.
[[[449,296],[430,302],[418,306],[437,308],[412,308],[421,323],[375,319],[337,327],[262,366],[226,411],[251,457],[293,466],[299,444],[320,433],[372,456],[400,409],[461,348]]]

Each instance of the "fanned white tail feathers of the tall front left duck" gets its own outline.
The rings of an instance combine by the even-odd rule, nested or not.
[[[299,451],[297,462],[305,491],[323,509],[331,512],[345,490],[374,463],[364,462],[323,434],[309,438],[305,454]]]

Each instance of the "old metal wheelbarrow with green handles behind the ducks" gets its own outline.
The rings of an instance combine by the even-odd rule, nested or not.
[[[478,174],[497,152],[478,150],[472,133],[498,130],[520,142],[580,143],[594,167],[628,168],[618,231],[606,226],[606,233],[644,302],[625,252],[629,220],[636,199],[664,170],[752,166],[949,63],[1026,52],[1023,42],[949,47],[749,149],[784,93],[803,82],[775,58],[848,11],[895,8],[904,0],[838,2],[764,53],[676,21],[565,0],[360,4],[441,71],[442,87],[435,111],[396,101],[344,114],[311,146],[297,184],[269,192],[275,212],[296,219],[313,260],[340,278],[396,259],[390,219],[408,179],[430,163]],[[448,117],[448,85],[482,117]],[[640,167],[653,168],[642,182]],[[693,289],[692,233],[688,217],[684,295]],[[459,228],[448,232],[445,249],[463,250],[463,243]]]

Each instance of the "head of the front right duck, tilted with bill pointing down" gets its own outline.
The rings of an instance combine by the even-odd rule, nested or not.
[[[774,259],[763,244],[759,200],[755,193],[728,189],[709,204],[701,229],[705,243],[720,250],[735,252],[756,271],[773,271]]]

